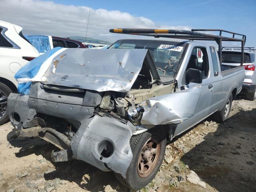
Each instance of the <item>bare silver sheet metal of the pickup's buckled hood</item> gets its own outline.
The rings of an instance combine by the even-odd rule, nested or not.
[[[53,59],[53,62],[58,60],[58,64],[48,68],[45,74],[47,81],[44,83],[99,92],[128,92],[142,68],[147,51],[66,49]]]

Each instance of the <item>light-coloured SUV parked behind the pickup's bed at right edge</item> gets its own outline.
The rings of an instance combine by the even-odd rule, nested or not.
[[[222,65],[239,66],[241,63],[241,47],[222,47]],[[244,48],[245,78],[241,94],[246,99],[256,99],[256,49],[254,47]]]

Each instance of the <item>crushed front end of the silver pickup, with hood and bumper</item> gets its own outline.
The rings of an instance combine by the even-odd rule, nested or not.
[[[60,148],[52,153],[56,162],[83,160],[125,177],[130,138],[147,130],[140,126],[139,103],[172,91],[157,84],[150,63],[147,50],[59,50],[42,63],[46,71],[31,78],[29,94],[10,94],[10,121],[19,136],[39,136]]]

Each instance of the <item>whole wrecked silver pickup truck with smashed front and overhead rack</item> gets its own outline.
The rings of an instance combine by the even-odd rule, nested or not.
[[[139,30],[163,32],[153,31]],[[179,34],[168,32],[175,32],[172,38]],[[228,40],[179,32],[188,36],[177,38]],[[230,39],[244,44],[244,38]],[[37,65],[30,71],[36,74],[22,69],[16,74],[23,89],[8,97],[10,121],[19,136],[39,136],[60,148],[52,153],[55,162],[83,160],[140,189],[158,172],[166,140],[211,114],[219,121],[228,118],[245,71],[243,66],[222,71],[218,58],[214,46],[196,41],[127,39],[107,50],[61,48],[25,66]]]

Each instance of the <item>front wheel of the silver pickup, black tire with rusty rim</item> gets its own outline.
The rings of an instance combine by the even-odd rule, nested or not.
[[[162,164],[166,134],[163,128],[153,128],[130,139],[132,162],[126,172],[126,178],[117,174],[117,180],[124,186],[139,190],[156,176]]]

